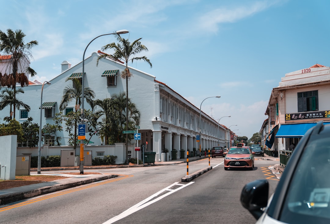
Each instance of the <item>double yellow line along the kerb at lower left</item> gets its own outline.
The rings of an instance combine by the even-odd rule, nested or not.
[[[99,186],[99,185],[102,185],[102,184],[112,183],[112,182],[115,182],[115,181],[118,181],[118,180],[123,180],[123,179],[129,178],[129,177],[133,177],[133,175],[120,175],[120,174],[118,174],[118,176],[121,176],[121,177],[111,178],[111,179],[108,179],[108,180],[103,181],[103,182],[91,183],[87,186],[82,185],[81,187],[78,187],[78,188],[75,188],[75,189],[69,189],[69,190],[64,189],[65,190],[64,192],[58,192],[58,193],[55,193],[55,194],[51,194],[51,195],[43,196],[43,197],[40,197],[40,198],[32,199],[32,200],[29,200],[29,201],[26,201],[26,202],[21,202],[21,203],[15,204],[15,205],[9,205],[7,207],[0,208],[0,212],[1,211],[6,211],[6,210],[9,210],[9,209],[12,209],[12,208],[20,207],[20,206],[23,206],[23,205],[28,205],[28,204],[32,204],[32,203],[35,203],[35,202],[43,201],[43,200],[46,200],[46,199],[49,199],[49,198],[54,198],[54,197],[57,197],[57,196],[60,196],[60,195],[65,195],[65,194],[72,193],[72,192],[75,192],[75,191],[80,191],[80,190],[84,190],[84,189],[87,189],[87,188],[96,187],[96,186]]]

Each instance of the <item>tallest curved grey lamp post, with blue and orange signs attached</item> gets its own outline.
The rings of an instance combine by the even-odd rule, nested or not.
[[[86,50],[88,48],[88,46],[90,45],[90,43],[92,43],[96,38],[99,38],[99,37],[102,37],[102,36],[106,36],[106,35],[112,35],[112,34],[124,34],[124,33],[128,33],[128,30],[118,30],[116,31],[115,33],[107,33],[107,34],[102,34],[102,35],[99,35],[97,37],[95,37],[93,40],[91,40],[84,52],[83,52],[83,55],[82,55],[82,106],[81,106],[81,123],[84,124],[84,105],[83,105],[83,102],[84,102],[84,73],[85,73],[85,53],[86,53]],[[83,160],[83,149],[84,149],[84,139],[81,139],[80,140],[80,174],[83,174],[83,165],[84,165],[84,160]]]

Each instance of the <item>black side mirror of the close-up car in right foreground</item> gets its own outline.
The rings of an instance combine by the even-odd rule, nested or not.
[[[246,184],[241,193],[241,204],[249,210],[254,218],[259,219],[267,206],[269,183],[265,179],[255,180]]]

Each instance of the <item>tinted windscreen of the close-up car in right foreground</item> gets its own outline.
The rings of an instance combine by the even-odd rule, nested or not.
[[[310,140],[288,187],[280,221],[329,223],[330,138]]]

